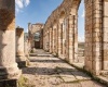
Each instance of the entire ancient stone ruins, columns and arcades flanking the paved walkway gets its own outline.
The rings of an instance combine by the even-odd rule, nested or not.
[[[45,24],[29,23],[28,37],[24,40],[24,29],[15,29],[15,0],[0,0],[0,79],[18,79],[22,75],[18,64],[27,65],[27,58],[37,45],[69,64],[79,64],[78,10],[81,1],[64,0]],[[108,74],[108,0],[84,0],[84,7],[83,69],[93,75],[105,75]]]

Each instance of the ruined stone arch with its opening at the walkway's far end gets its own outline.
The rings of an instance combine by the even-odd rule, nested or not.
[[[40,48],[42,47],[42,41],[40,38],[41,32],[43,29],[43,24],[42,23],[36,23],[36,24],[30,24],[28,25],[29,27],[29,45],[30,45],[30,50],[33,50],[33,48]],[[43,47],[42,47],[43,48]]]

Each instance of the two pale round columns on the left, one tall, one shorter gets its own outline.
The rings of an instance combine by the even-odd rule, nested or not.
[[[15,30],[15,0],[0,0],[0,79],[18,79],[22,71],[16,62],[26,60],[24,29]]]

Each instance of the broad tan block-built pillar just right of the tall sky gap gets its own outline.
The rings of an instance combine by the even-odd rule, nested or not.
[[[102,71],[102,0],[85,3],[85,69],[98,75]]]

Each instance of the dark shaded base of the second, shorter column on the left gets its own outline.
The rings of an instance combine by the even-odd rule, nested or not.
[[[26,67],[29,64],[29,61],[26,57],[16,57],[16,62],[19,69]]]

